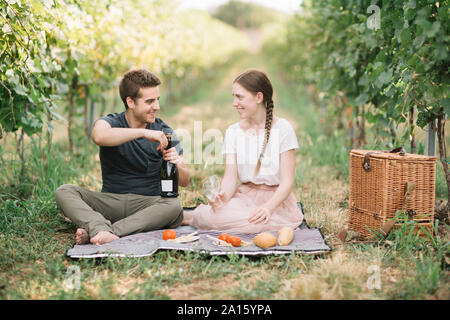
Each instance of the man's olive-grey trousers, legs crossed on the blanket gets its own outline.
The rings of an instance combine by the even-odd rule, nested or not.
[[[55,192],[63,214],[89,237],[109,231],[119,237],[138,232],[176,228],[183,220],[178,198],[91,191],[64,184]]]

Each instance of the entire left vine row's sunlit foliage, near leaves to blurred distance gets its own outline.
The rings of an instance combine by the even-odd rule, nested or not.
[[[98,99],[130,68],[181,79],[247,45],[232,27],[172,1],[0,4],[0,125],[7,132],[22,127],[32,135],[46,122],[51,128],[61,100]]]

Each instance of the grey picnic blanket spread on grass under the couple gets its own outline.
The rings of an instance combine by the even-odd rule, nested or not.
[[[302,208],[301,203],[298,203]],[[184,208],[193,210],[194,208]],[[238,234],[242,241],[251,243],[248,246],[228,247],[216,244],[210,237],[217,238],[222,232],[217,230],[197,230],[191,226],[181,226],[174,229],[177,232],[177,238],[189,235],[197,231],[199,239],[189,243],[177,243],[162,239],[164,230],[155,230],[144,233],[137,233],[119,238],[110,243],[102,245],[74,245],[67,250],[66,255],[71,258],[101,258],[107,256],[113,257],[146,257],[154,254],[158,250],[184,250],[197,251],[209,255],[268,255],[268,254],[320,254],[331,251],[326,243],[320,229],[309,228],[306,221],[299,228],[294,230],[294,240],[287,246],[274,246],[268,249],[261,249],[253,244],[253,237],[256,234]],[[271,231],[278,236],[277,230]]]

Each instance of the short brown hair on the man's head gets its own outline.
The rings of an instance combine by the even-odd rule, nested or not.
[[[140,88],[157,87],[161,80],[150,71],[139,69],[131,70],[124,74],[119,85],[120,98],[122,98],[125,108],[128,109],[127,97],[136,101],[139,98]]]

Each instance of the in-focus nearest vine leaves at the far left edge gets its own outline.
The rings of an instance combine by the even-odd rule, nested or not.
[[[42,130],[45,115],[56,115],[56,95],[67,91],[51,50],[59,33],[50,31],[50,23],[56,30],[61,25],[43,14],[50,6],[49,1],[1,1],[0,125],[6,131]]]

